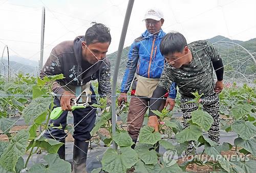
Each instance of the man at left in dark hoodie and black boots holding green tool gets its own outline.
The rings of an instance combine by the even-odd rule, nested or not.
[[[65,77],[54,82],[52,87],[53,92],[56,93],[54,105],[61,106],[63,113],[58,119],[50,121],[54,127],[49,128],[44,134],[48,138],[64,143],[58,150],[61,159],[65,159],[67,134],[64,130],[67,126],[68,111],[71,111],[71,100],[82,90],[87,89],[92,92],[90,98],[82,96],[80,100],[81,103],[86,102],[87,98],[91,100],[88,107],[72,111],[74,116],[72,172],[86,172],[90,132],[96,119],[96,109],[91,105],[97,103],[90,81],[98,80],[100,96],[110,96],[111,93],[110,63],[105,58],[111,43],[110,30],[101,23],[93,23],[85,36],[78,36],[74,41],[63,41],[56,45],[40,72],[40,78],[60,73]],[[108,103],[110,104],[110,97]],[[60,125],[62,129],[56,128]]]

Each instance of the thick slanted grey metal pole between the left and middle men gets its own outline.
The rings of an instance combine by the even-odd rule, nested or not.
[[[123,50],[123,44],[124,44],[128,24],[130,21],[130,16],[133,9],[133,3],[134,3],[134,0],[129,0],[129,3],[127,5],[127,9],[126,9],[126,13],[123,21],[122,33],[121,33],[118,51],[117,51],[115,71],[113,76],[112,93],[111,93],[112,135],[114,135],[116,132],[116,83],[117,83],[117,77],[118,77],[118,70],[119,70],[119,65],[120,65],[120,60],[121,60],[121,55]],[[117,144],[114,141],[113,141],[113,149],[117,149]]]

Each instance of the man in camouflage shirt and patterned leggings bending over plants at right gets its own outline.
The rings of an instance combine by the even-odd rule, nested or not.
[[[197,110],[197,104],[187,103],[194,99],[191,92],[198,91],[204,94],[202,105],[214,119],[208,136],[212,141],[220,143],[219,129],[219,97],[223,89],[223,63],[218,51],[206,40],[195,41],[187,44],[184,36],[178,32],[168,33],[161,41],[160,51],[165,57],[166,64],[153,98],[161,97],[172,82],[176,82],[181,93],[181,110],[183,112],[183,128],[188,127],[187,120],[191,118],[191,112]],[[217,82],[214,83],[213,68],[216,72]],[[157,99],[151,100],[151,110],[157,110],[160,106]],[[148,126],[158,131],[158,118],[150,112]],[[194,154],[195,147],[190,141],[186,154]]]

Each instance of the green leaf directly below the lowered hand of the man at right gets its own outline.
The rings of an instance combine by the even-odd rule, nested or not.
[[[154,132],[155,129],[153,127],[145,126],[140,129],[140,142],[141,143],[148,143],[148,144],[155,144],[157,141],[161,139],[161,135],[159,132]]]

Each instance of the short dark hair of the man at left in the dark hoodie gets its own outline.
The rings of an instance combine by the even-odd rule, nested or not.
[[[93,26],[86,31],[86,35],[84,36],[87,45],[98,42],[111,43],[110,29],[108,27],[104,26],[102,23],[92,22],[91,24],[93,24]]]

